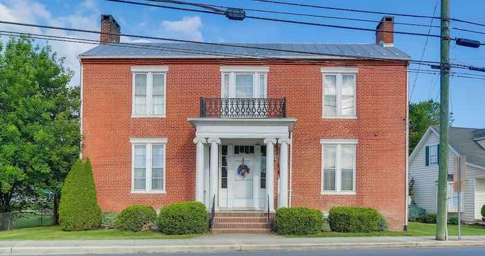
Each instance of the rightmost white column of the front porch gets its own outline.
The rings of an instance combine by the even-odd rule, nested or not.
[[[278,208],[288,207],[288,144],[290,139],[280,138],[279,143],[279,199]]]

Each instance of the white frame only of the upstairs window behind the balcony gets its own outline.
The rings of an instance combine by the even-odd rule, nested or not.
[[[236,75],[252,75],[253,76],[253,98],[267,98],[267,73],[270,68],[267,66],[221,66],[221,86],[220,95],[224,97],[224,82],[225,75],[229,74],[229,98],[236,98]],[[265,84],[260,83],[260,75],[265,76]],[[261,88],[263,87],[263,88]],[[264,90],[264,95],[261,96],[261,89]]]

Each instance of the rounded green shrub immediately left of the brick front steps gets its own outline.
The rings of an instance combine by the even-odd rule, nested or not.
[[[157,226],[166,235],[200,234],[209,227],[207,217],[203,203],[173,203],[160,210]]]

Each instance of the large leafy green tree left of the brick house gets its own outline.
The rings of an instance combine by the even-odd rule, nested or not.
[[[79,88],[51,46],[0,44],[0,212],[55,192],[80,152]],[[56,205],[56,204],[55,204]]]

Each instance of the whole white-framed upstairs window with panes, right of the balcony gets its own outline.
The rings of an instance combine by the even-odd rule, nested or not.
[[[357,68],[321,68],[322,117],[356,118]]]

